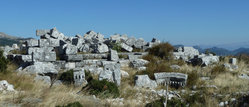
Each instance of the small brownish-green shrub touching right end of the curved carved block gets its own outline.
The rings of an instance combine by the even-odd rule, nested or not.
[[[192,87],[193,85],[196,85],[198,80],[199,75],[197,74],[197,71],[192,71],[188,74],[187,86]]]

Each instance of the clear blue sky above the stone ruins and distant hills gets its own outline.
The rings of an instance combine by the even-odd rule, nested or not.
[[[184,45],[249,42],[248,0],[1,0],[0,32],[35,37],[57,27]]]

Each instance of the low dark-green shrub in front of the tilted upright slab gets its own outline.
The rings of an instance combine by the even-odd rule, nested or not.
[[[119,89],[115,83],[107,80],[92,79],[83,89],[89,90],[90,94],[100,97],[118,97]]]

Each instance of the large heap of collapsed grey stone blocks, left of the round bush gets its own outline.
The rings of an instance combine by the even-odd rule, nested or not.
[[[122,66],[132,66],[145,69],[148,62],[141,58],[146,52],[133,52],[133,49],[146,50],[160,41],[153,39],[145,42],[142,38],[136,39],[127,35],[115,34],[110,38],[89,31],[84,36],[65,36],[56,28],[37,30],[39,40],[30,39],[20,48],[23,54],[9,54],[7,57],[20,64],[17,71],[37,74],[38,79],[51,80],[46,74],[57,74],[59,70],[74,70],[75,85],[86,83],[84,71],[99,75],[99,80],[107,79],[120,85]],[[113,50],[121,47],[122,52]],[[8,49],[13,50],[14,48]],[[127,57],[119,57],[127,56]]]

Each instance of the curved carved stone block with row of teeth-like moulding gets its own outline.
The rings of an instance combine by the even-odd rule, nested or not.
[[[188,75],[176,72],[162,72],[154,73],[157,84],[164,84],[165,82],[173,86],[184,87],[187,84]]]

